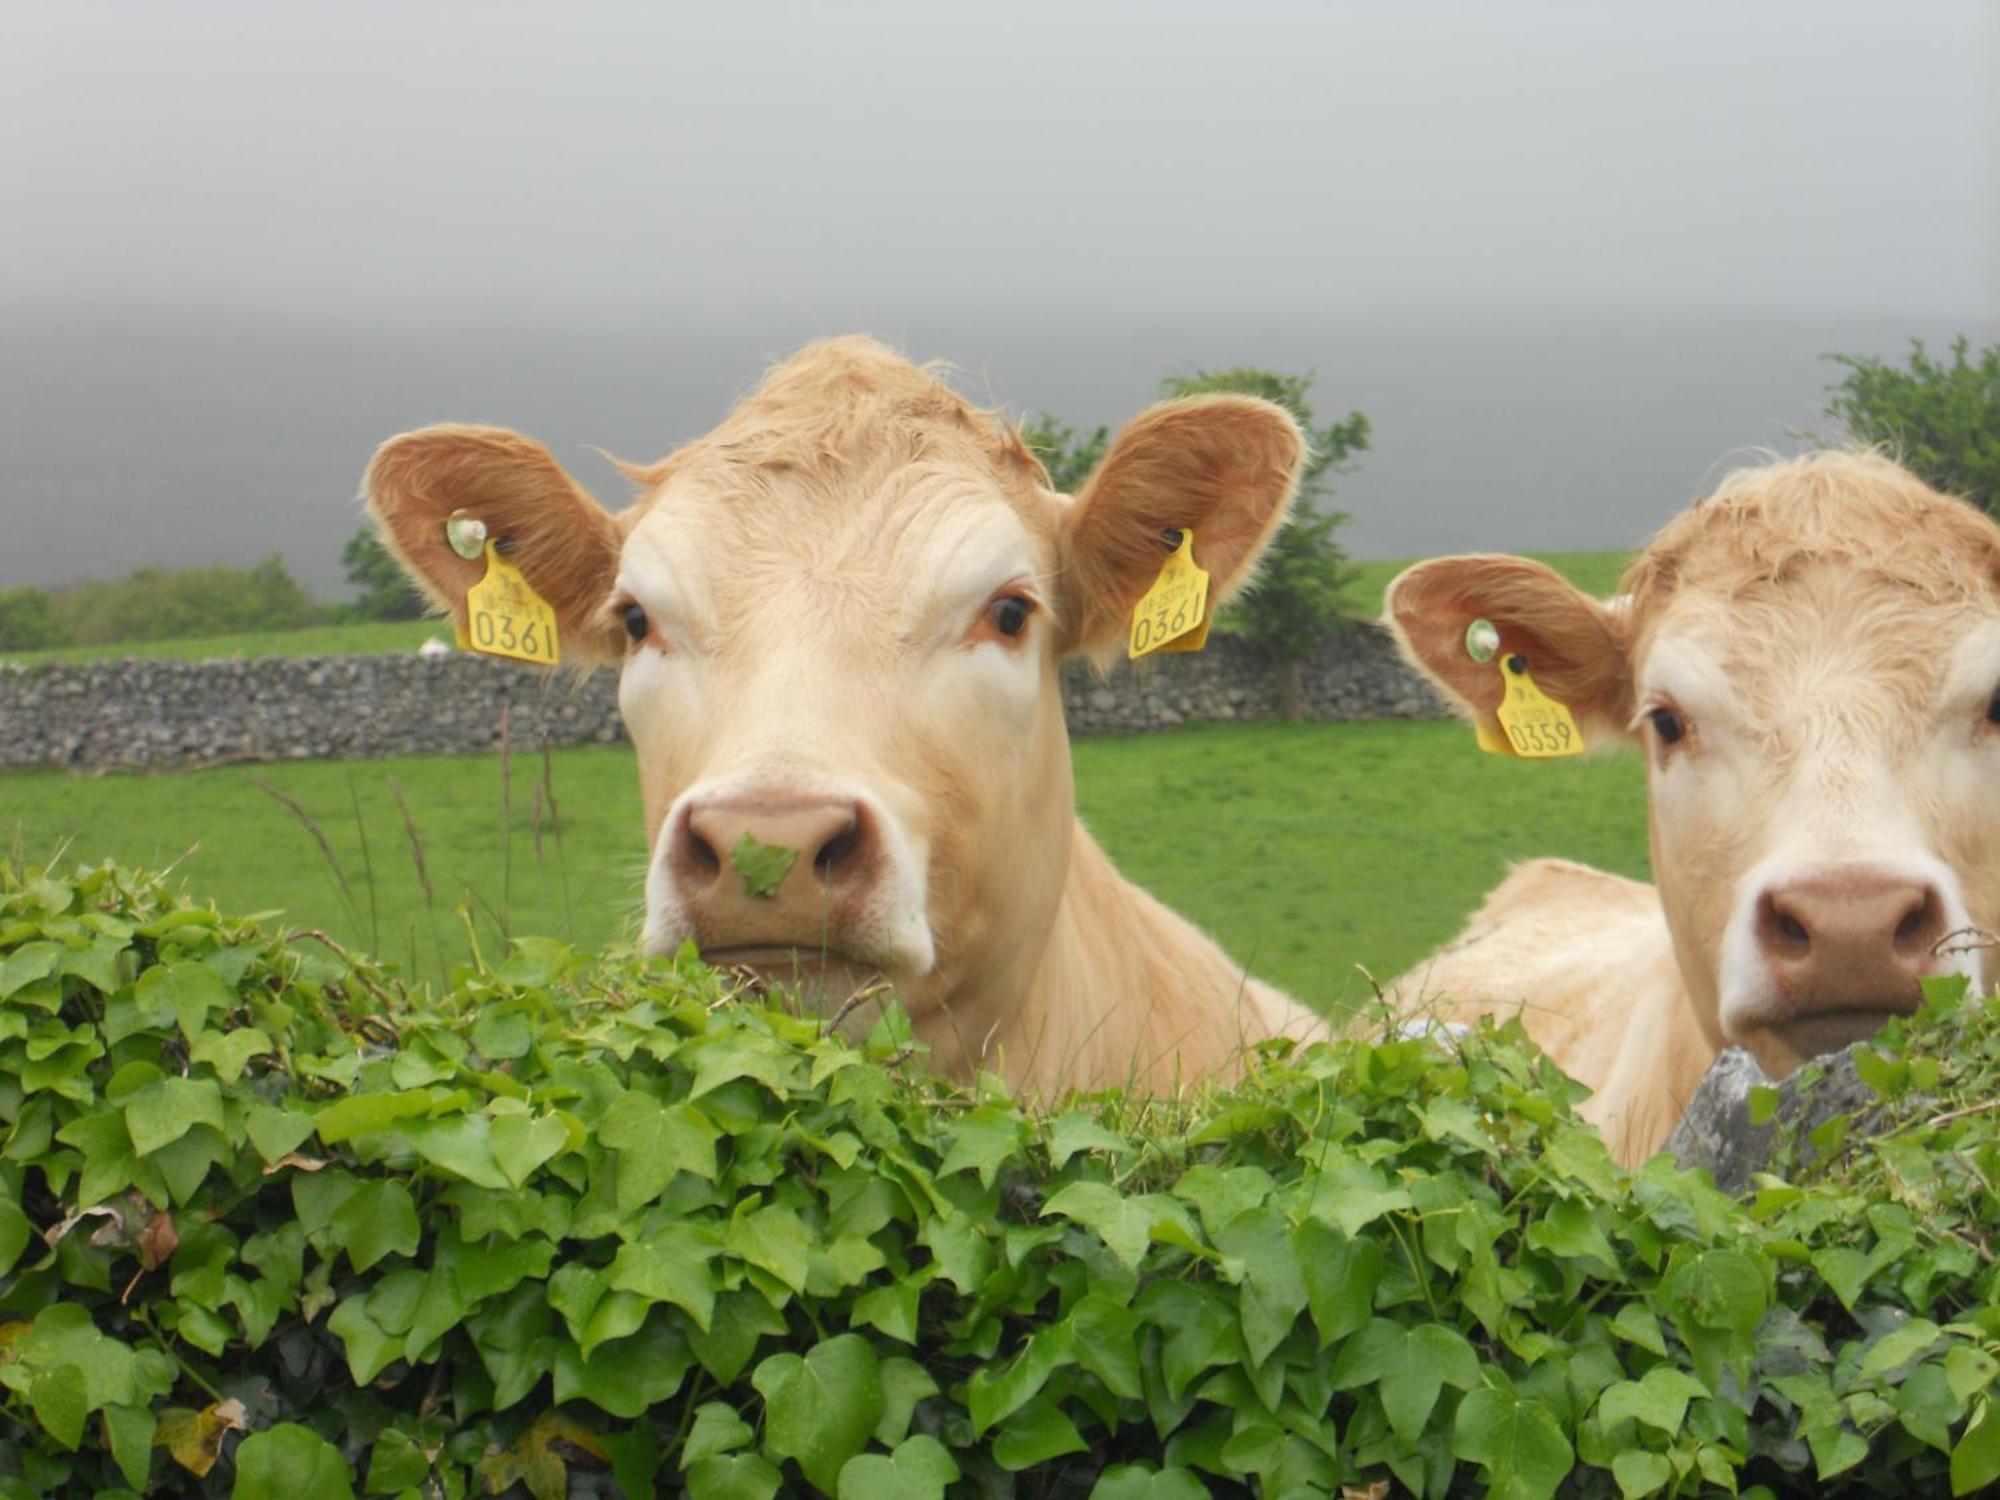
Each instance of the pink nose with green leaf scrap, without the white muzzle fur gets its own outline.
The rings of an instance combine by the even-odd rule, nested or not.
[[[736,860],[744,838],[790,850]],[[764,966],[764,950],[836,952],[882,872],[882,836],[860,802],[786,794],[696,798],[668,846],[668,874],[716,962]],[[758,860],[764,860],[758,864]]]

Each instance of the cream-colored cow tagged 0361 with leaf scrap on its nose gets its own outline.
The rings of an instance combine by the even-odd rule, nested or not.
[[[508,538],[568,652],[622,658],[650,950],[692,938],[820,1008],[886,978],[938,1066],[1046,1096],[1164,1090],[1314,1024],[1076,822],[1058,682],[1122,646],[1172,530],[1218,596],[1240,584],[1302,456],[1266,402],[1166,402],[1070,500],[1010,426],[842,338],[628,468],[642,494],[616,516],[538,444],[472,426],[392,438],[366,496],[460,620],[486,564],[448,546],[454,512]],[[734,868],[746,836],[798,852],[776,888]]]

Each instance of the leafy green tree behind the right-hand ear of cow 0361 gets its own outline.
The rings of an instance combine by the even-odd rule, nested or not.
[[[1272,538],[1256,584],[1226,616],[1230,630],[1278,660],[1286,712],[1298,718],[1304,712],[1300,668],[1320,642],[1340,628],[1342,596],[1354,580],[1348,554],[1334,534],[1346,514],[1328,502],[1332,476],[1352,454],[1368,448],[1368,418],[1362,412],[1348,412],[1342,420],[1318,426],[1306,400],[1312,390],[1310,374],[1278,374],[1254,366],[1168,376],[1160,382],[1160,390],[1166,396],[1210,392],[1262,396],[1298,418],[1306,442],[1312,444],[1292,516]]]

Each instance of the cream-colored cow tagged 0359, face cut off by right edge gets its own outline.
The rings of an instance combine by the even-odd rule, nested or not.
[[[1730,474],[1602,604],[1524,558],[1438,558],[1386,612],[1492,724],[1520,652],[1586,738],[1646,748],[1658,892],[1518,868],[1396,998],[1522,1008],[1596,1090],[1628,1162],[1726,1044],[1782,1076],[1918,1004],[1988,984],[2000,928],[2000,528],[1874,454]],[[1488,620],[1500,658],[1474,662]]]

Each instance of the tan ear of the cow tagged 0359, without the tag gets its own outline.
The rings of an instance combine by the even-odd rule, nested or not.
[[[1554,568],[1528,558],[1432,558],[1398,574],[1382,614],[1404,656],[1470,718],[1494,726],[1506,696],[1498,662],[1520,652],[1550,698],[1568,704],[1586,736],[1626,738],[1632,672],[1622,618]],[[1500,632],[1492,662],[1466,650],[1466,628]]]

